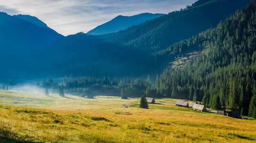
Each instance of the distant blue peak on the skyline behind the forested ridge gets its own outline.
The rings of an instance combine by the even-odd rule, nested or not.
[[[108,33],[117,32],[120,30],[124,30],[130,26],[138,25],[143,22],[146,22],[147,20],[152,20],[156,17],[160,17],[164,14],[152,14],[152,13],[141,13],[138,15],[133,16],[122,16],[119,15],[115,17],[114,19],[110,20],[109,22],[106,22],[100,26],[97,26],[96,28],[90,30],[87,32],[87,35],[104,35]]]

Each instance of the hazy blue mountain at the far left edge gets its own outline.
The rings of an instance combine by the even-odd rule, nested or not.
[[[36,65],[36,53],[63,38],[36,17],[0,12],[0,78],[20,78]]]

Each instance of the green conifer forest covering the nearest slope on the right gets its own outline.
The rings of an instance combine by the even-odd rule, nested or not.
[[[256,2],[235,16],[195,37],[158,53],[168,58],[189,49],[204,50],[184,69],[166,69],[156,83],[157,93],[202,101],[212,108],[256,111]]]

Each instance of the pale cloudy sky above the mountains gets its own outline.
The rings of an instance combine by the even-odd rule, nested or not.
[[[67,36],[88,32],[118,15],[164,13],[197,0],[0,0],[0,12],[31,15]]]

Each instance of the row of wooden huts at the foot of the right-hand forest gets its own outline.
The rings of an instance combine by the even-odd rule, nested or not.
[[[193,108],[193,110],[196,110],[196,111],[202,111],[202,112],[206,111],[206,108],[204,105],[196,104],[196,102],[189,103],[187,101],[179,100],[176,102],[176,106],[189,107],[189,108]],[[233,117],[233,118],[242,118],[237,111],[231,111],[227,114],[227,113],[225,113],[225,111],[219,110],[216,114],[229,116],[229,117]]]

